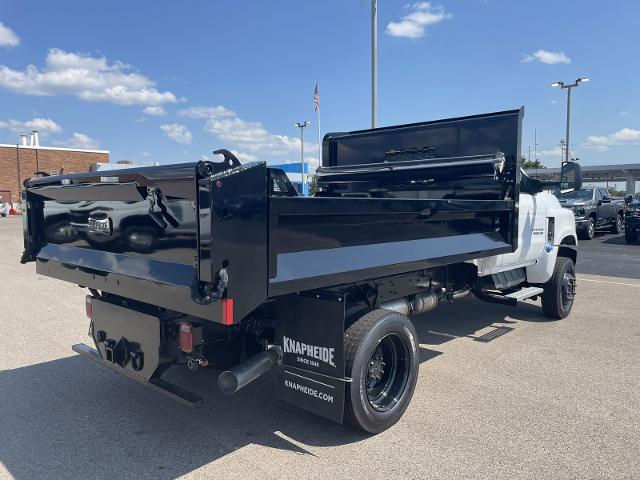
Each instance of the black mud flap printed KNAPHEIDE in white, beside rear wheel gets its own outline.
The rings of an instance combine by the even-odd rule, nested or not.
[[[318,416],[342,423],[344,413],[345,298],[298,294],[276,301],[276,343],[282,364],[276,396]]]

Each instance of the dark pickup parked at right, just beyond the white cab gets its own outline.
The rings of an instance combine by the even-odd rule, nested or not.
[[[598,228],[622,232],[625,205],[613,198],[603,187],[581,188],[573,192],[557,193],[560,205],[573,211],[576,231],[583,240],[591,240]]]

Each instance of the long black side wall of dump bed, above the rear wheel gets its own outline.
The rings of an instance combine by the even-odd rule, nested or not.
[[[269,296],[512,250],[510,200],[270,198]]]

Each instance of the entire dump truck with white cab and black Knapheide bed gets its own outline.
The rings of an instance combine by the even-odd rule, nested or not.
[[[188,405],[174,365],[226,369],[228,394],[274,370],[279,398],[380,432],[418,378],[409,315],[469,292],[571,312],[575,224],[520,173],[522,115],[327,134],[311,198],[226,150],[28,180],[22,262],[89,288],[86,358]]]

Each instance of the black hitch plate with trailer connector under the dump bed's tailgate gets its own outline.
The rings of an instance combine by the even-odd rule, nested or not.
[[[93,341],[102,361],[149,380],[160,363],[160,319],[93,300]]]

